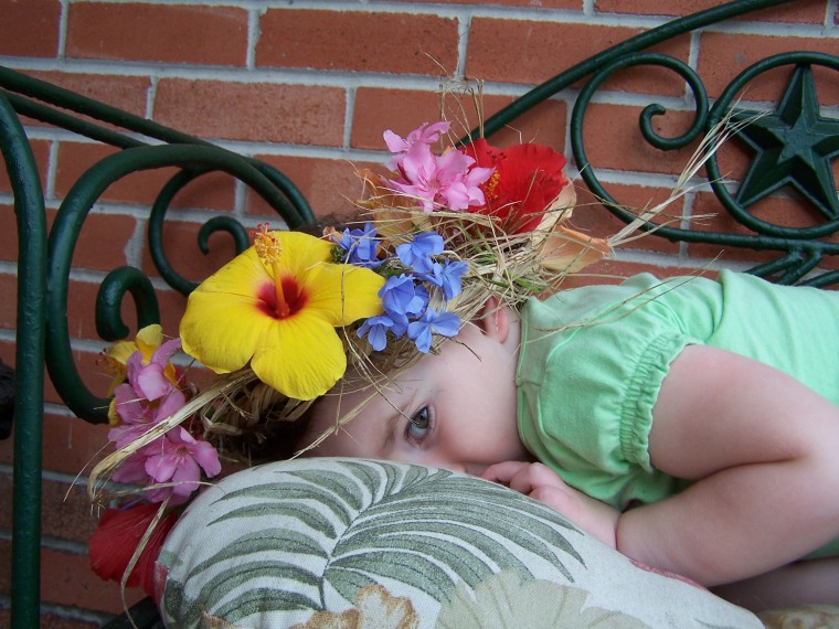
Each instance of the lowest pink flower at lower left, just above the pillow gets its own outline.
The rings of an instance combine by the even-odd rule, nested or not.
[[[156,439],[149,446],[153,448],[140,450],[146,457],[146,473],[153,482],[177,483],[171,488],[173,498],[188,497],[195,491],[202,469],[208,478],[214,477],[222,469],[215,448],[193,438],[181,427],[169,430],[163,438]]]

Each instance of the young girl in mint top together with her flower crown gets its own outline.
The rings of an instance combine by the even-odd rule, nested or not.
[[[703,585],[771,575],[742,604],[839,603],[839,295],[723,271],[544,298],[637,225],[569,230],[561,156],[437,156],[447,129],[385,134],[363,228],[263,230],[190,296],[184,351],[232,372],[205,430],[480,476]]]

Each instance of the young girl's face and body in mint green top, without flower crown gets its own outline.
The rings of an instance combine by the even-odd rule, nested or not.
[[[729,271],[641,275],[520,312],[490,299],[373,399],[348,376],[307,437],[363,404],[315,455],[481,476],[645,564],[736,582],[839,555],[838,314],[839,295]],[[813,583],[798,566],[739,600],[839,601],[839,561],[809,567]]]

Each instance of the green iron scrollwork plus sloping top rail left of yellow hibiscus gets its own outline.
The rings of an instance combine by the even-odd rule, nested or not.
[[[0,92],[3,102],[19,114],[121,149],[102,159],[78,178],[59,207],[45,247],[49,287],[45,291],[45,351],[50,376],[59,395],[74,414],[88,422],[106,422],[108,399],[94,395],[85,386],[71,351],[66,319],[73,253],[85,218],[103,192],[129,173],[163,167],[179,169],[163,185],[153,203],[148,238],[151,257],[160,276],[183,295],[188,295],[195,284],[172,268],[163,248],[162,233],[166,213],[172,200],[189,182],[208,172],[226,172],[262,196],[291,228],[311,222],[311,210],[291,181],[267,163],[8,68],[0,67],[0,85],[4,88]],[[119,129],[115,130],[97,121],[116,125]],[[25,141],[25,136],[22,137]],[[163,143],[147,142],[140,138]],[[24,179],[39,181],[36,174]],[[15,204],[20,204],[18,199],[22,199],[23,193],[17,190],[14,193]],[[43,216],[43,200],[40,206]],[[247,247],[245,228],[232,217],[219,216],[208,221],[199,232],[198,246],[203,253],[208,253],[210,234],[217,231],[231,234],[237,252]],[[45,234],[45,227],[40,233]],[[30,236],[36,234],[21,237],[20,242],[32,242]],[[21,277],[25,267],[22,265]],[[105,277],[96,299],[96,326],[103,339],[113,341],[128,335],[128,327],[120,316],[123,301],[128,295],[132,298],[140,327],[159,322],[159,306],[151,280],[136,268],[115,269]]]

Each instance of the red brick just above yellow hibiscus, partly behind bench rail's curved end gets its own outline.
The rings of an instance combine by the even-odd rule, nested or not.
[[[357,169],[375,168],[371,162],[328,160],[317,158],[257,156],[297,185],[317,216],[351,215],[353,200],[361,193],[361,180]],[[275,217],[276,212],[255,192],[248,191],[247,213]],[[272,221],[273,222],[273,221]]]

